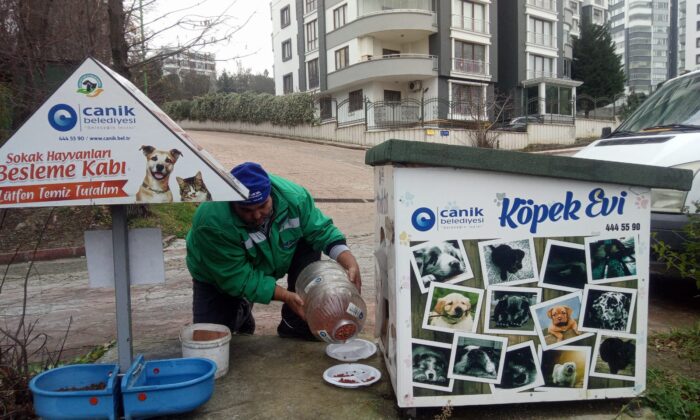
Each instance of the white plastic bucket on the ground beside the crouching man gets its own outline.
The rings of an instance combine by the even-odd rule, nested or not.
[[[192,335],[195,330],[225,332],[226,335],[215,340],[194,341]],[[214,378],[220,378],[228,372],[228,347],[230,341],[231,331],[225,325],[192,324],[182,327],[180,330],[182,357],[203,357],[216,363]]]

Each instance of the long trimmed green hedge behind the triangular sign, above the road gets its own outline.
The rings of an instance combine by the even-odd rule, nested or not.
[[[166,102],[163,111],[176,121],[271,122],[274,125],[293,126],[314,121],[314,98],[308,93],[284,96],[252,92],[217,93]]]

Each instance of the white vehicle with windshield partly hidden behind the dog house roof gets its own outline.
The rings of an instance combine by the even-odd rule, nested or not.
[[[651,231],[676,249],[700,201],[700,70],[668,80],[611,134],[575,157],[693,171],[690,191],[653,189]],[[663,272],[652,261],[652,271]]]

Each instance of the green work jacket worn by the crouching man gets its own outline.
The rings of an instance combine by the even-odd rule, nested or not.
[[[331,245],[344,243],[342,232],[305,188],[275,175],[270,181],[273,220],[268,236],[249,231],[229,202],[200,204],[187,234],[187,268],[195,280],[251,302],[269,303],[300,239],[326,253]]]

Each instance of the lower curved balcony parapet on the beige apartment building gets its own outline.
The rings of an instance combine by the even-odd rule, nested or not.
[[[364,56],[358,63],[328,73],[328,90],[377,80],[408,82],[437,77],[437,68],[437,56],[428,54]]]

